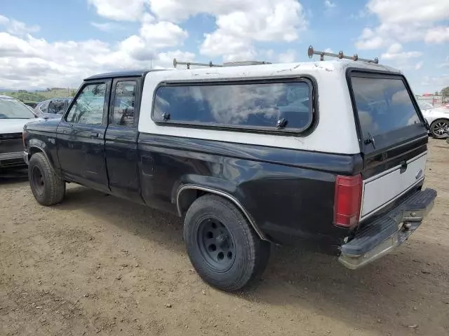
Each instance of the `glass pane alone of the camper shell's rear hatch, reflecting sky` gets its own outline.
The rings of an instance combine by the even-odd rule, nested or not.
[[[413,101],[398,78],[351,78],[363,138],[420,123]]]

